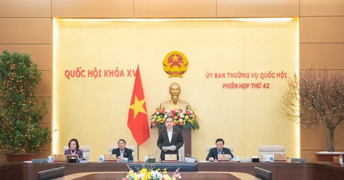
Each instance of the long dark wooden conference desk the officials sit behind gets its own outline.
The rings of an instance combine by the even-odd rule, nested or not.
[[[64,175],[80,172],[125,172],[127,163],[0,163],[1,180],[37,179],[37,172],[65,167]],[[228,163],[201,162],[198,172],[243,172],[255,176],[254,167],[260,167],[272,172],[273,180],[342,180],[344,166],[334,165],[332,162],[314,163]]]

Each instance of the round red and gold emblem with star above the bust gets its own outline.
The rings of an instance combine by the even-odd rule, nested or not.
[[[189,61],[185,55],[179,51],[172,51],[168,53],[162,61],[164,71],[169,77],[177,76],[183,77],[183,74],[187,70]]]

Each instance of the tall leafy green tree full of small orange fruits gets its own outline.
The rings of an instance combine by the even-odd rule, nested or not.
[[[29,53],[2,51],[0,55],[0,153],[8,161],[17,154],[40,151],[51,142],[52,131],[40,127],[47,114],[47,104],[37,104],[35,88],[41,82],[41,72],[33,64]],[[9,159],[10,158],[10,159]],[[32,159],[32,157],[31,157]]]

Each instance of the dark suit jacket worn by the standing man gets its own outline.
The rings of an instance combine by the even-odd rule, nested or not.
[[[184,140],[183,140],[182,132],[180,131],[179,128],[173,127],[172,131],[173,131],[172,139],[170,143],[169,136],[167,135],[167,128],[165,127],[159,130],[159,137],[158,137],[157,145],[161,149],[161,154],[160,154],[161,160],[165,160],[165,154],[176,154],[177,160],[179,160],[178,149],[183,146]],[[162,147],[167,147],[167,146],[172,146],[172,145],[175,145],[177,147],[176,151],[167,150],[166,152],[164,152],[162,150]]]

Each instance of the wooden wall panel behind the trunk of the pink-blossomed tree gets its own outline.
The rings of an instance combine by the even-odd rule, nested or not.
[[[340,123],[334,130],[335,151],[344,150],[344,123]],[[327,140],[325,126],[318,126],[310,131],[300,131],[300,149],[315,150],[317,152],[327,151]]]

